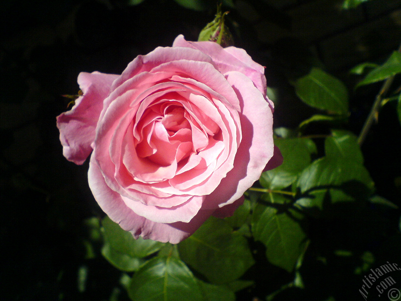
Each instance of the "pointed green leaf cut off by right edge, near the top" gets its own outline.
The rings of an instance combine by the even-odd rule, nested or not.
[[[361,85],[368,85],[369,83],[382,81],[397,73],[401,73],[401,53],[394,51],[391,57],[383,65],[369,72],[365,79],[360,81],[356,86],[359,87]]]

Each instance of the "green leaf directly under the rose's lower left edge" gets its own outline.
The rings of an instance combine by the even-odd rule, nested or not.
[[[113,250],[127,254],[130,257],[146,257],[160,250],[164,245],[150,239],[135,239],[130,232],[124,231],[118,224],[110,220],[108,216],[103,218],[102,226],[104,236]]]

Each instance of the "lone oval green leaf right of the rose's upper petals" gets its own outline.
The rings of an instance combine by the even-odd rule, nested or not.
[[[330,113],[348,113],[348,92],[344,83],[318,68],[298,79],[295,84],[298,97],[311,107]]]

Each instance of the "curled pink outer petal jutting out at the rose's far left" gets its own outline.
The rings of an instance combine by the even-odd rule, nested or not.
[[[57,128],[60,130],[60,141],[63,155],[75,164],[83,164],[92,151],[95,140],[95,128],[103,100],[109,94],[110,86],[118,75],[100,72],[78,75],[79,87],[83,96],[75,101],[70,111],[57,116]]]

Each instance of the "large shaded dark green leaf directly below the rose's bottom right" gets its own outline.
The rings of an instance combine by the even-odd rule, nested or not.
[[[216,284],[238,279],[254,263],[247,240],[214,217],[180,242],[178,250],[182,260]]]

